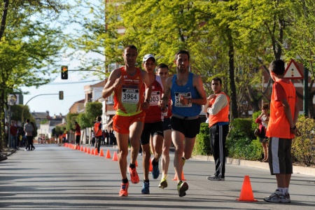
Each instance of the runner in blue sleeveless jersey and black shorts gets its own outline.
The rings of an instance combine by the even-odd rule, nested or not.
[[[200,76],[190,72],[190,55],[180,50],[175,55],[176,74],[165,81],[161,107],[166,109],[172,98],[172,141],[175,146],[174,167],[179,197],[186,195],[188,183],[183,182],[185,161],[191,157],[196,135],[200,132],[200,112],[207,103],[206,93]],[[184,144],[185,142],[185,144]]]

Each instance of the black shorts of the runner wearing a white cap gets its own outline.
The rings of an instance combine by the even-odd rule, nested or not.
[[[156,123],[144,123],[144,130],[141,134],[141,145],[149,144],[150,137],[154,135],[163,135],[163,122],[156,122]]]

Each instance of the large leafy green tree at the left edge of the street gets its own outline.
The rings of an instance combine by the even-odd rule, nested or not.
[[[57,62],[62,49],[62,30],[52,28],[49,20],[62,10],[60,1],[1,1],[0,27],[0,116],[1,141],[4,139],[4,110],[7,96],[22,85],[40,86],[52,78],[50,65]],[[47,15],[47,13],[49,15]],[[2,141],[2,148],[5,141]]]

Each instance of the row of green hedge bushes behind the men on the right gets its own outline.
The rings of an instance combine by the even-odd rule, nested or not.
[[[226,140],[228,157],[243,160],[261,160],[263,151],[258,138],[253,135],[258,126],[255,119],[260,111],[253,113],[252,118],[236,118],[230,124],[230,132]],[[297,128],[302,136],[293,139],[293,162],[305,166],[315,163],[315,120],[300,116]],[[212,155],[207,123],[200,125],[200,134],[197,134],[193,155]]]

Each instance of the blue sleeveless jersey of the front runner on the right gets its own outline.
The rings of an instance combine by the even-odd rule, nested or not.
[[[198,104],[188,104],[188,105],[182,105],[179,102],[179,98],[181,96],[188,97],[190,99],[197,99],[200,98],[199,92],[195,89],[193,86],[193,73],[189,73],[188,76],[188,83],[184,86],[179,86],[176,83],[177,75],[175,74],[173,76],[172,80],[172,89],[171,89],[171,98],[172,98],[172,113],[183,116],[183,117],[195,117],[199,116],[202,108]]]

